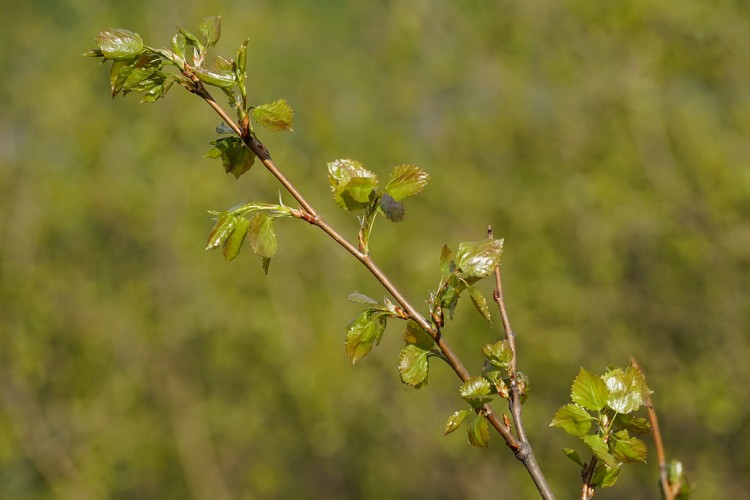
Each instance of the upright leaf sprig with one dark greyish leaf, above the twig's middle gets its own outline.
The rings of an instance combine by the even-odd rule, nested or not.
[[[363,211],[359,216],[359,247],[369,253],[369,241],[375,218],[385,216],[400,222],[406,209],[402,200],[424,189],[430,175],[416,165],[398,165],[388,177],[385,188],[378,189],[378,177],[355,160],[335,160],[328,164],[328,182],[336,204],[349,211]]]

